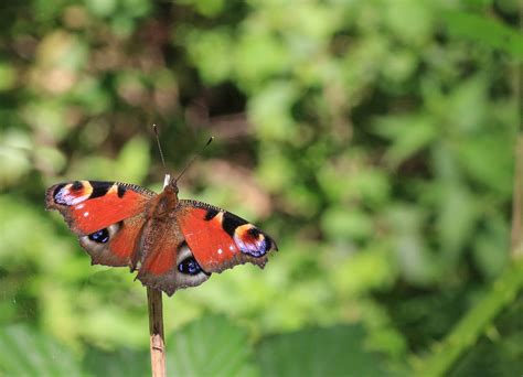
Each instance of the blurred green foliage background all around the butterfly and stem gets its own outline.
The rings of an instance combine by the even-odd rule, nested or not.
[[[174,174],[215,137],[180,196],[280,249],[164,299],[171,374],[521,375],[519,6],[3,2],[0,374],[149,373],[146,290],[44,192],[161,191],[154,122]]]

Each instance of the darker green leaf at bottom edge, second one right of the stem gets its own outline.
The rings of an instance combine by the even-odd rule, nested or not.
[[[264,341],[257,355],[263,376],[383,376],[366,352],[360,326],[308,328]]]

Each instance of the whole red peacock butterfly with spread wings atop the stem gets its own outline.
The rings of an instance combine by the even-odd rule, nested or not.
[[[74,181],[45,194],[93,265],[128,266],[143,286],[172,295],[211,273],[250,262],[264,268],[276,243],[247,220],[216,206],[178,198],[177,180],[157,194],[135,184]]]

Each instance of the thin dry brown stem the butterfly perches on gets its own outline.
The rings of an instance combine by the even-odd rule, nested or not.
[[[163,308],[161,299],[161,291],[147,287],[151,375],[153,377],[167,376],[166,341],[163,336]]]

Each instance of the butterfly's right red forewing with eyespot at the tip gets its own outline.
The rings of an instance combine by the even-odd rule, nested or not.
[[[250,262],[263,268],[275,241],[247,220],[196,201],[180,201],[177,220],[195,260],[206,272]]]

